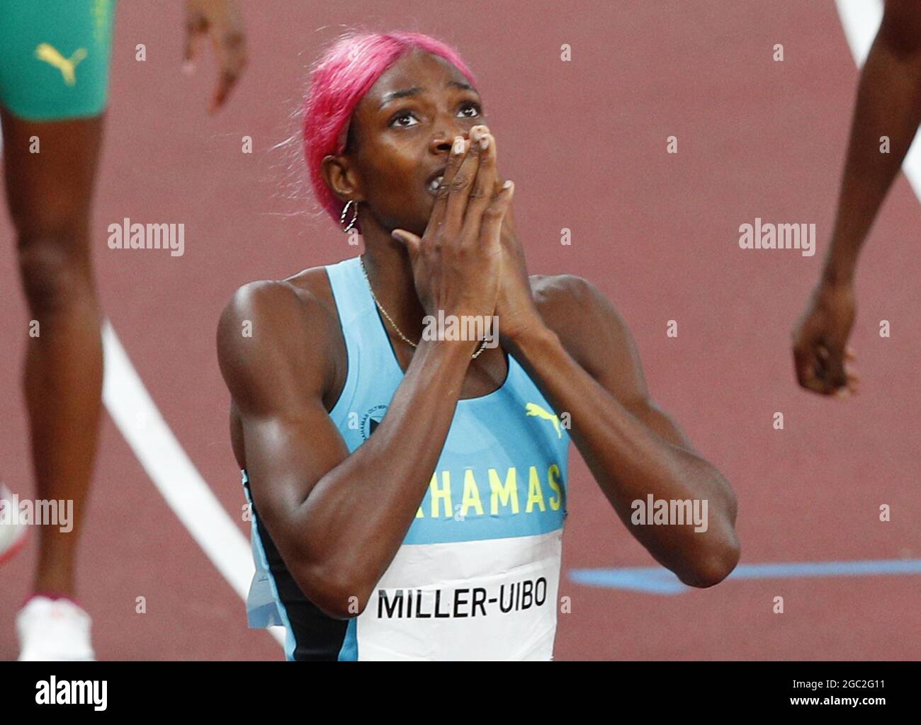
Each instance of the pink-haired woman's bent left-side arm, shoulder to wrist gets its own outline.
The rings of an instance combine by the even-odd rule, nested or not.
[[[286,282],[254,282],[224,310],[217,350],[256,510],[309,600],[344,618],[364,610],[413,523],[475,342],[420,343],[387,415],[349,455],[322,401],[332,323]]]

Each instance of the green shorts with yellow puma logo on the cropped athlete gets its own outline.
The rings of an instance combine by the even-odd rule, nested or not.
[[[116,0],[0,0],[0,104],[29,121],[98,116]]]

